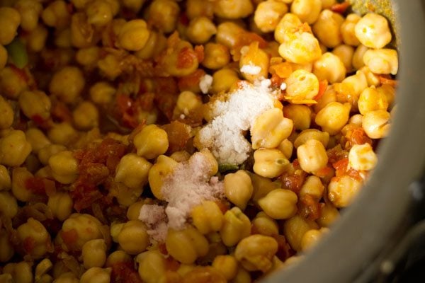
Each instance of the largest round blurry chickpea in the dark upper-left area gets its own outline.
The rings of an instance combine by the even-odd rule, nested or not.
[[[74,103],[84,88],[83,73],[77,67],[64,67],[50,81],[49,90],[64,103]]]

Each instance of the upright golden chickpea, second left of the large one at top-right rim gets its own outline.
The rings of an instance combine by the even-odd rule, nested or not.
[[[341,25],[344,17],[330,10],[323,10],[313,25],[313,33],[326,47],[333,48],[341,44]]]

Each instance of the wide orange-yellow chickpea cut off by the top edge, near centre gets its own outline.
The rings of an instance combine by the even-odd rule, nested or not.
[[[221,18],[245,18],[254,12],[250,0],[218,0],[215,2],[214,13]]]

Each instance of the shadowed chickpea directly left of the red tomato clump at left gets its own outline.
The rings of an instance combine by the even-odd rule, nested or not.
[[[78,177],[78,161],[72,151],[60,151],[49,158],[52,175],[59,183],[71,184]]]

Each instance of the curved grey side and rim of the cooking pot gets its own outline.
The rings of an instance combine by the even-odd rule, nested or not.
[[[379,146],[378,166],[329,236],[263,282],[387,282],[409,246],[421,236],[425,241],[425,224],[417,222],[425,210],[425,1],[392,1],[392,11],[399,37],[398,106]]]

